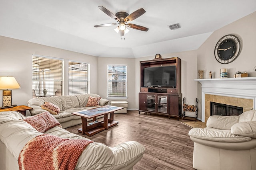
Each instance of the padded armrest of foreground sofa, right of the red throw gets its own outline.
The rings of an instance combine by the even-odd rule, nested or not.
[[[94,142],[82,152],[76,169],[127,170],[140,160],[144,152],[144,146],[136,141],[124,142],[116,147]]]

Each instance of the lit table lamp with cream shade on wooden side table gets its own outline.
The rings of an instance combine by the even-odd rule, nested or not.
[[[3,107],[1,108],[9,108],[12,106],[12,90],[8,89],[16,89],[20,88],[20,85],[16,81],[14,77],[0,77],[0,89],[3,90]]]

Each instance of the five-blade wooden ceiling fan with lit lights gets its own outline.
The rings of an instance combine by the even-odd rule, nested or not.
[[[133,23],[130,23],[130,21],[135,20],[136,18],[142,16],[146,11],[143,8],[140,8],[132,14],[128,14],[126,12],[117,12],[116,15],[114,15],[112,12],[104,8],[103,6],[98,6],[100,10],[102,10],[105,14],[116,20],[116,23],[105,23],[101,25],[94,25],[94,27],[106,27],[106,26],[112,26],[112,25],[118,25],[116,29],[114,29],[117,33],[119,33],[122,38],[124,37],[125,33],[128,33],[127,27],[137,29],[140,31],[148,31],[148,28],[143,27],[141,25],[136,25]]]

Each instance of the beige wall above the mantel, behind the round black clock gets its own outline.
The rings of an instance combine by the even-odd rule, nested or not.
[[[212,35],[197,50],[198,70],[204,70],[204,78],[208,78],[209,71],[214,73],[213,78],[220,78],[220,68],[228,68],[228,77],[232,78],[237,71],[247,72],[250,77],[255,77],[253,71],[256,66],[256,12],[241,18],[221,29]],[[234,34],[239,37],[242,43],[240,55],[229,64],[220,64],[214,57],[214,47],[218,40],[224,35]],[[198,98],[201,108],[201,84],[198,82]],[[199,114],[201,111],[199,109]]]

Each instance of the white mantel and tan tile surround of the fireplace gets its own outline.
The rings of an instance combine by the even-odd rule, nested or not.
[[[256,77],[195,79],[202,84],[202,122],[210,116],[210,102],[243,107],[256,107]]]

